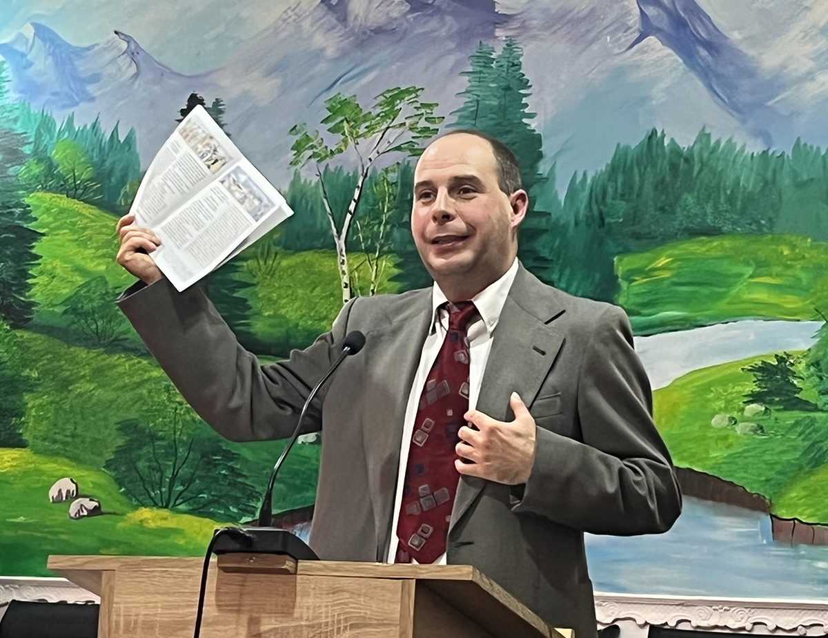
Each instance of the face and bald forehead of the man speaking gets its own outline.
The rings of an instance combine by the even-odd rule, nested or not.
[[[522,216],[498,186],[497,162],[486,140],[449,135],[417,162],[412,234],[437,283],[455,275],[494,281],[506,272],[517,249],[513,229]]]

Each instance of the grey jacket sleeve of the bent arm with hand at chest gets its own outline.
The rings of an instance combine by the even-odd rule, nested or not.
[[[583,442],[537,428],[532,473],[513,511],[592,534],[670,529],[681,512],[681,491],[652,421],[647,373],[619,307],[597,321],[577,402]]]

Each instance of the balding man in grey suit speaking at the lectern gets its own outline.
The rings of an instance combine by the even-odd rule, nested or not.
[[[272,365],[238,346],[199,288],[177,293],[137,252],[159,240],[129,215],[118,262],[142,289],[119,305],[236,441],[289,436],[344,336],[363,331],[307,422],[324,428],[310,546],[333,560],[469,563],[591,638],[584,532],[666,531],[681,495],[627,317],[522,268],[526,210],[502,143],[439,138],[417,163],[412,208],[434,287],[352,300],[330,332]]]

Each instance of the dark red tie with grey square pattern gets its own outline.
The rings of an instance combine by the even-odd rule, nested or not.
[[[448,303],[449,331],[422,389],[408,450],[397,520],[397,563],[434,563],[445,552],[451,507],[460,474],[457,432],[469,409],[469,342],[472,302]]]

